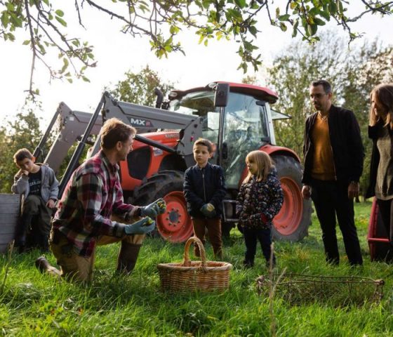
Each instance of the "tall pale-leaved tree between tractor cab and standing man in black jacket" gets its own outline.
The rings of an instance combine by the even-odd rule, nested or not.
[[[276,140],[302,157],[305,119],[314,111],[309,100],[309,84],[328,79],[333,86],[333,99],[338,98],[345,79],[345,42],[331,32],[322,34],[319,44],[294,41],[281,51],[268,69],[269,85],[279,93],[274,110],[291,115],[291,119],[275,121]]]

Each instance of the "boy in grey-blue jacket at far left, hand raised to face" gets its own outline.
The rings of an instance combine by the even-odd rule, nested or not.
[[[17,228],[15,246],[20,252],[30,246],[48,251],[51,214],[58,200],[59,182],[47,164],[34,163],[29,150],[18,150],[13,159],[20,171],[14,177],[11,191],[23,194],[22,219]],[[34,226],[33,216],[38,216]]]

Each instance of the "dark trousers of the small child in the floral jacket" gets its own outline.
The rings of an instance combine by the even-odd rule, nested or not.
[[[243,234],[244,242],[246,243],[246,256],[244,257],[244,265],[248,267],[252,267],[254,265],[258,241],[262,248],[263,256],[265,256],[266,262],[269,263],[270,255],[272,253],[272,230],[270,228],[265,230],[257,230],[244,227]],[[273,264],[275,263],[275,260],[275,256],[273,256]]]

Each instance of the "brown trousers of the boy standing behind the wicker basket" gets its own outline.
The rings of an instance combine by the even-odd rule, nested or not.
[[[208,230],[208,239],[213,246],[214,256],[222,258],[221,219],[220,218],[192,218],[194,235],[205,244],[205,231]],[[199,248],[194,245],[194,255],[201,256]]]

